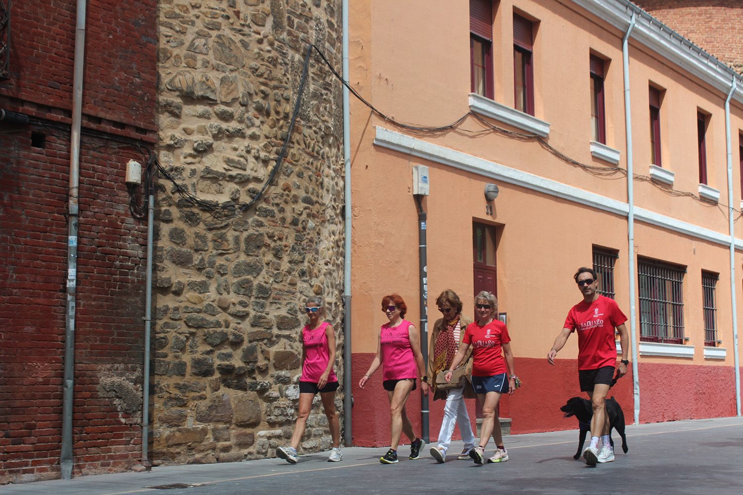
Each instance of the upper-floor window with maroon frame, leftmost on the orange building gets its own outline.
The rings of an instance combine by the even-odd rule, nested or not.
[[[493,2],[470,0],[470,91],[493,99]]]

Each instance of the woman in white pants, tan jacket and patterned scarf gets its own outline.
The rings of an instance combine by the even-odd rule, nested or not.
[[[458,295],[447,289],[436,298],[438,310],[443,318],[438,318],[433,324],[431,332],[431,344],[429,346],[429,383],[435,387],[436,373],[440,370],[448,370],[452,359],[457,353],[464,329],[472,323],[470,318],[461,314],[462,304]],[[468,369],[466,376],[469,379],[471,370]],[[454,425],[459,425],[459,431],[464,441],[464,450],[457,459],[470,459],[470,449],[475,447],[475,435],[470,423],[470,415],[467,413],[467,405],[464,398],[474,399],[475,393],[469,381],[464,387],[452,390],[436,390],[434,388],[433,399],[446,399],[444,406],[444,420],[441,422],[441,431],[438,433],[438,445],[432,447],[430,452],[437,462],[444,462],[447,450],[452,441]]]

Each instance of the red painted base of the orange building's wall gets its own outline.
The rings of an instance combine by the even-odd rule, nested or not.
[[[353,355],[354,379],[353,443],[361,447],[389,445],[389,402],[377,371],[362,390],[357,385],[369,369],[372,353]],[[547,359],[516,358],[516,374],[523,387],[513,396],[502,398],[500,416],[510,417],[511,433],[573,430],[574,418],[563,418],[559,408],[573,396],[586,397],[578,385],[577,360],[559,359],[554,366]],[[640,422],[735,416],[735,373],[732,367],[695,364],[639,364]],[[627,424],[634,422],[632,370],[611,388],[624,411]],[[467,409],[475,427],[475,399],[467,399]],[[406,406],[415,433],[421,434],[421,390],[415,390]],[[438,439],[444,415],[444,401],[429,403],[429,435]],[[460,439],[458,429],[455,439]],[[401,439],[404,444],[407,440]]]

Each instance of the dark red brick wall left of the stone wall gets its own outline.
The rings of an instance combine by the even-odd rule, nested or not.
[[[36,117],[0,122],[0,484],[59,477],[75,4],[13,2],[0,82],[0,108]],[[75,474],[140,459],[146,223],[130,214],[123,178],[142,155],[118,138],[156,142],[156,7],[88,1]]]

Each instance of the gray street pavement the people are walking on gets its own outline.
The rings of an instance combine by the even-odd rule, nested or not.
[[[577,425],[576,425],[577,426]],[[616,436],[616,434],[614,434]],[[629,453],[589,468],[573,459],[577,430],[507,436],[510,460],[477,466],[455,454],[452,442],[444,465],[429,456],[380,465],[385,448],[344,448],[343,462],[326,462],[328,453],[301,456],[296,465],[281,459],[226,464],[160,466],[149,473],[81,476],[0,486],[2,495],[123,494],[743,494],[743,419],[700,419],[627,427]],[[490,455],[492,442],[488,445]],[[183,483],[190,488],[149,487]]]

